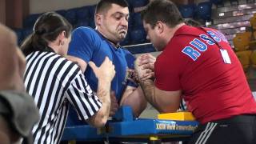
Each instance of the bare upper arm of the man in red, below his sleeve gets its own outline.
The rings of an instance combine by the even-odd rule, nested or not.
[[[165,91],[154,86],[154,101],[160,113],[176,112],[181,101],[181,95],[182,90]]]

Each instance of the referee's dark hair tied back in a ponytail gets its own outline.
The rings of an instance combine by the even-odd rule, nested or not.
[[[22,42],[22,52],[28,55],[34,51],[53,51],[48,42],[53,42],[63,30],[66,31],[66,38],[70,37],[72,26],[60,14],[42,14],[34,24],[33,33]]]

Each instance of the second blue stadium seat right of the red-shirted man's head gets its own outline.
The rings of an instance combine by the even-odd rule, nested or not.
[[[196,9],[197,17],[205,21],[210,20],[211,6],[212,6],[211,2],[200,2]]]

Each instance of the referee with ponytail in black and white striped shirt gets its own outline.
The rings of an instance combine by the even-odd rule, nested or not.
[[[24,81],[27,92],[37,104],[41,119],[34,126],[34,143],[60,142],[69,103],[79,118],[92,126],[104,126],[110,113],[110,82],[114,65],[106,58],[100,67],[90,62],[98,78],[97,96],[90,89],[82,71],[66,55],[72,26],[54,12],[42,14],[34,32],[22,43],[26,55]]]

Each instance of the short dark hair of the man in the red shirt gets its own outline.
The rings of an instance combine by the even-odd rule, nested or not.
[[[154,27],[158,21],[174,27],[184,22],[178,7],[170,0],[154,0],[141,12],[142,19]]]

